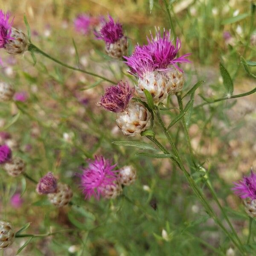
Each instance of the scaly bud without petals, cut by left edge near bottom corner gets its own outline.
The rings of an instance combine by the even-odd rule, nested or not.
[[[12,224],[6,221],[0,221],[0,250],[13,243],[15,233]]]

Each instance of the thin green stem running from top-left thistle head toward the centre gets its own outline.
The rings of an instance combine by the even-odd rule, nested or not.
[[[100,78],[100,79],[102,79],[102,80],[104,80],[104,81],[107,81],[107,82],[111,83],[111,84],[116,84],[114,81],[111,81],[111,80],[109,80],[109,79],[107,79],[107,78],[105,78],[105,77],[103,77],[103,76],[99,76],[99,75],[97,75],[97,74],[95,74],[95,73],[88,72],[88,71],[86,71],[86,70],[82,70],[82,69],[80,69],[80,68],[76,68],[76,67],[72,67],[72,66],[70,66],[70,65],[67,65],[67,64],[65,64],[65,63],[63,63],[63,62],[61,62],[61,61],[59,61],[59,60],[53,58],[52,56],[50,56],[50,55],[47,54],[46,52],[44,52],[44,51],[42,51],[41,49],[39,49],[38,47],[36,47],[34,44],[30,44],[28,50],[29,50],[30,52],[37,52],[37,53],[40,53],[40,54],[43,55],[44,57],[49,58],[50,60],[52,60],[52,61],[54,61],[54,62],[60,64],[60,65],[63,66],[63,67],[67,67],[67,68],[69,68],[69,69],[71,69],[71,70],[80,71],[80,72],[85,73],[85,74],[90,75],[90,76],[98,77],[98,78]]]

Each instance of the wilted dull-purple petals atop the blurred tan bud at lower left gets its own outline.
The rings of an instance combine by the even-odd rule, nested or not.
[[[52,172],[48,172],[40,179],[36,191],[38,194],[50,194],[57,191],[57,179],[52,175]]]

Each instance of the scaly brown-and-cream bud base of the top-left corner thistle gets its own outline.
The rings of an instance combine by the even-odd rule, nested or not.
[[[20,29],[12,27],[11,39],[5,44],[5,50],[9,54],[16,55],[26,52],[29,47],[29,40],[26,34]]]

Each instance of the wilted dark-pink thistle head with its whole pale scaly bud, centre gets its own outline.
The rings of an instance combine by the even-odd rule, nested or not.
[[[134,90],[128,82],[120,81],[106,89],[98,105],[107,111],[117,113],[116,123],[126,135],[135,136],[149,126],[151,114],[139,102],[130,101]]]

